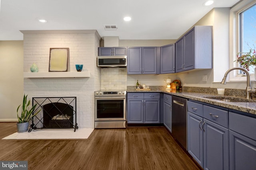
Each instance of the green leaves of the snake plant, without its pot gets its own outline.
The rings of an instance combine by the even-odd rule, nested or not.
[[[28,109],[28,107],[30,105],[30,100],[28,100],[28,102],[27,102],[27,96],[28,95],[25,96],[25,94],[24,94],[23,103],[20,104],[20,106],[22,106],[21,107],[21,115],[20,116],[18,114],[20,106],[18,106],[18,108],[17,108],[17,117],[18,117],[18,121],[19,121],[18,123],[25,123],[25,122],[30,121],[30,119],[32,119],[32,117],[37,115],[37,113],[39,113],[39,111],[41,110],[40,109],[39,111],[34,113],[34,109],[36,108],[37,104],[32,106],[31,109]]]

